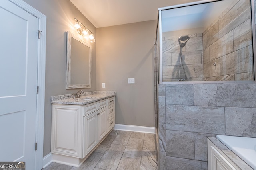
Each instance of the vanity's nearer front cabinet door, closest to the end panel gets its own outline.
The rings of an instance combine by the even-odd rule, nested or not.
[[[97,113],[98,111],[95,111],[84,117],[83,157],[85,157],[98,143]]]

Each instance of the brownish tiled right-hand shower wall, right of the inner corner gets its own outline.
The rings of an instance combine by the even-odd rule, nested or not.
[[[203,33],[204,81],[253,80],[250,0],[233,3]]]

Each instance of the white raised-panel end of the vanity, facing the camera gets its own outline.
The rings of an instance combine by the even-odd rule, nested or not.
[[[82,158],[81,106],[52,105],[52,152]]]

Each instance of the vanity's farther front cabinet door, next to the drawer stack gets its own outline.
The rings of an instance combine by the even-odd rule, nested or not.
[[[107,133],[107,108],[104,107],[98,111],[98,141],[100,141]]]

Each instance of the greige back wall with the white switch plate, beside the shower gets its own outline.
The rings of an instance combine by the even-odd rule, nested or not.
[[[156,24],[152,20],[97,29],[97,90],[116,91],[117,124],[155,126]],[[135,84],[127,84],[127,78],[135,78]]]

